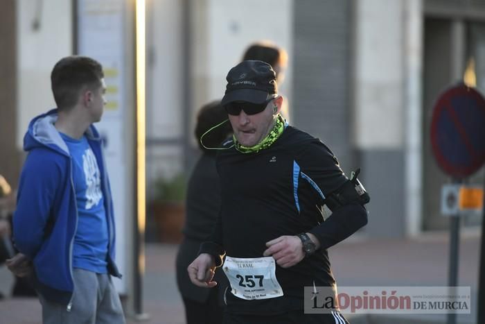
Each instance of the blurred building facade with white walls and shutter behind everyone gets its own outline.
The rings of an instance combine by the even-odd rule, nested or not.
[[[7,1],[0,173],[16,187],[28,120],[53,106],[48,74],[73,49],[69,1]],[[272,40],[288,51],[281,93],[290,121],[319,137],[371,193],[362,235],[403,237],[448,228],[430,148],[437,96],[473,76],[485,93],[485,3],[480,0],[148,0],[147,178],[190,172],[197,109],[222,97],[245,47]],[[48,10],[49,8],[49,10]],[[55,8],[55,9],[54,9]],[[15,15],[12,15],[15,12]],[[35,28],[38,18],[41,28]],[[63,26],[60,28],[59,26]],[[57,37],[52,37],[52,35]],[[15,69],[12,69],[15,66]],[[9,96],[15,94],[15,96]],[[29,94],[29,95],[26,95]],[[31,95],[30,95],[31,94]],[[12,122],[15,121],[15,122]],[[13,144],[15,143],[15,144]],[[484,171],[468,182],[481,184]],[[464,218],[476,226],[478,216]]]

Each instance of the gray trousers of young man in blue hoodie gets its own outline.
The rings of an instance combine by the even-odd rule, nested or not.
[[[71,310],[39,297],[44,324],[125,324],[121,301],[108,274],[73,269]]]

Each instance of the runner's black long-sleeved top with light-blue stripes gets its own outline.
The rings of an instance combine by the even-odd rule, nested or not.
[[[221,214],[209,240],[212,243],[204,244],[202,253],[218,255],[225,251],[230,257],[263,257],[267,241],[300,232],[316,235],[321,243],[320,250],[290,268],[276,265],[283,296],[243,300],[228,289],[228,311],[278,314],[303,309],[304,287],[335,284],[326,249],[365,225],[367,211],[351,203],[333,210],[324,221],[318,207],[324,205],[325,196],[347,181],[328,147],[308,133],[287,126],[269,148],[257,153],[240,153],[235,148],[220,151],[216,165]],[[218,258],[216,264],[220,264]]]

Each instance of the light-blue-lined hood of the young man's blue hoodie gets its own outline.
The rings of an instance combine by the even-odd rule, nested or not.
[[[57,120],[57,109],[50,110],[32,119],[24,136],[24,151],[28,152],[37,147],[48,147],[61,154],[69,155],[69,148],[54,126]],[[89,139],[101,140],[93,125],[87,128],[85,135]]]

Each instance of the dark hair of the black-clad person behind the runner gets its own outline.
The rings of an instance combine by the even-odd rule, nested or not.
[[[211,129],[211,127],[218,125],[218,123],[222,123],[222,121],[227,120],[227,112],[224,110],[220,101],[213,101],[211,103],[207,103],[200,108],[197,114],[197,124],[195,125],[195,139],[197,139],[197,144],[205,153],[214,153],[215,150],[208,150],[202,146],[200,143],[200,137],[206,133],[207,130]],[[214,128],[209,133],[207,133],[202,142],[207,147],[218,147],[227,139],[229,135],[232,134],[231,123],[227,121],[223,123],[221,126]]]

